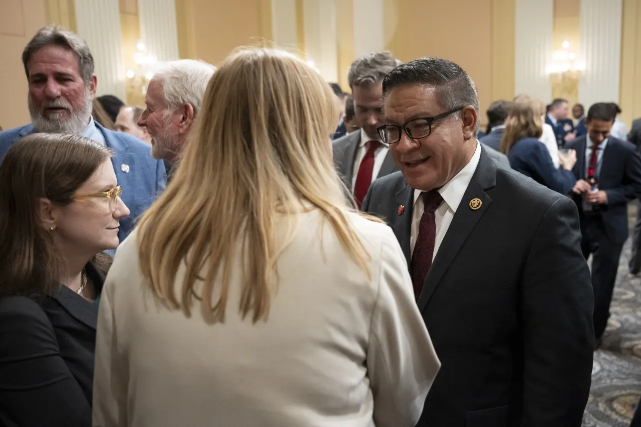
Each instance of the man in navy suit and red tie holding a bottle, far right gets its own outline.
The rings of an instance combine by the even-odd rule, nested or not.
[[[577,153],[572,197],[579,208],[581,250],[586,259],[592,255],[597,340],[608,324],[619,256],[628,239],[628,202],[641,195],[641,157],[632,144],[610,136],[614,119],[607,103],[590,106],[588,134],[567,144]]]

